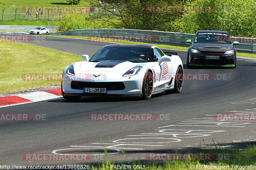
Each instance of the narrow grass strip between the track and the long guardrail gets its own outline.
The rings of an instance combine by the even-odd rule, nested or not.
[[[55,37],[68,37],[68,38],[80,38],[80,39],[89,39],[89,40],[95,40],[92,37],[83,37],[83,36],[67,36],[67,35],[46,35],[46,36],[55,36]],[[181,46],[172,46],[172,45],[164,45],[164,44],[154,44],[154,43],[145,43],[145,42],[137,42],[137,41],[127,41],[127,40],[116,40],[116,39],[110,39],[110,38],[100,38],[98,37],[96,40],[98,41],[108,41],[108,42],[115,42],[115,43],[123,43],[123,44],[148,44],[148,45],[155,45],[159,48],[168,48],[168,49],[174,49],[174,50],[183,50],[187,51],[188,47],[181,47]],[[250,53],[236,53],[236,56],[240,57],[248,57],[248,58],[256,58],[256,54],[250,54]]]

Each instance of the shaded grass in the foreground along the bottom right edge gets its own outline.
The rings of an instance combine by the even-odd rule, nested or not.
[[[157,163],[157,161],[152,161],[151,163],[143,164],[141,161],[133,161],[130,165],[146,165],[146,170],[192,170],[192,169],[202,169],[202,170],[220,170],[220,167],[213,168],[214,166],[227,166],[229,168],[224,169],[232,169],[232,165],[234,166],[256,166],[256,147],[253,145],[248,145],[248,148],[244,150],[240,150],[239,147],[232,147],[230,150],[228,149],[220,149],[216,147],[215,149],[205,149],[205,150],[198,150],[199,152],[196,153],[219,153],[225,154],[226,159],[220,160],[166,160],[164,163]],[[228,154],[228,155],[227,155]],[[110,168],[111,165],[114,165],[113,161],[105,161],[99,166],[92,166],[93,170],[113,170]],[[120,163],[119,165],[124,165]],[[125,164],[127,165],[127,164]],[[193,166],[193,167],[192,167]],[[197,166],[197,168],[196,168]],[[202,168],[199,168],[201,166]],[[205,166],[207,166],[205,168]],[[212,166],[212,168],[208,168]],[[131,168],[136,169],[136,168]],[[233,167],[233,169],[235,169]],[[243,169],[242,168],[238,168]],[[251,169],[251,168],[246,168]],[[122,169],[120,169],[122,170]]]

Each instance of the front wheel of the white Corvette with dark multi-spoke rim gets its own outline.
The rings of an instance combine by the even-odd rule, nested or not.
[[[150,71],[147,72],[143,79],[142,98],[150,99],[153,92],[153,75]]]

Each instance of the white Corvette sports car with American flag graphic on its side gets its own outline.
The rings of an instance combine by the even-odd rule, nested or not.
[[[174,54],[174,55],[172,55]],[[138,96],[150,99],[160,92],[180,92],[183,65],[177,52],[164,52],[151,45],[108,45],[89,60],[63,71],[61,90],[64,99],[81,96]]]

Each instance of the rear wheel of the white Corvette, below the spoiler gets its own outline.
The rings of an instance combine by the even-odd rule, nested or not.
[[[183,71],[182,68],[179,66],[174,80],[174,89],[165,91],[167,94],[171,93],[179,93],[182,89],[183,85]]]

